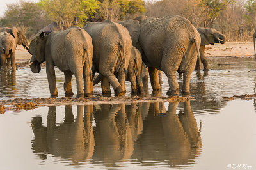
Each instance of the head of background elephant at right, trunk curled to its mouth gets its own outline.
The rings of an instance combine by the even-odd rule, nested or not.
[[[197,29],[201,36],[201,45],[214,45],[214,43],[224,44],[227,40],[226,36],[213,28],[200,27]]]

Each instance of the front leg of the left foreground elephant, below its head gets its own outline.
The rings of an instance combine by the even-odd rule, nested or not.
[[[58,97],[54,65],[52,65],[51,63],[46,63],[46,74],[47,74],[51,97]]]

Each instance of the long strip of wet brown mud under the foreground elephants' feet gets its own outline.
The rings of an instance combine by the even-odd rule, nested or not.
[[[15,98],[0,100],[0,110],[3,113],[11,109],[35,109],[42,106],[58,105],[92,105],[92,104],[122,104],[141,102],[184,102],[193,97],[61,97],[61,98]]]

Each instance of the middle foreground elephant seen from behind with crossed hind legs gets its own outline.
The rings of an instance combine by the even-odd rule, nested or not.
[[[92,37],[93,65],[102,78],[102,93],[109,94],[108,84],[113,86],[115,96],[125,94],[125,72],[129,65],[132,40],[124,26],[111,20],[89,22],[83,27]],[[118,77],[118,81],[115,78]],[[106,85],[104,85],[106,84]]]

